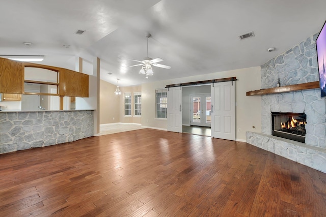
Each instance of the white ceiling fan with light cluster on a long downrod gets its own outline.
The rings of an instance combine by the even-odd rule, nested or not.
[[[135,60],[135,59],[128,59],[128,60],[132,60],[132,61],[136,61],[139,62],[141,64],[137,64],[137,65],[132,65],[129,67],[134,67],[134,66],[142,66],[142,69],[139,71],[139,74],[141,75],[146,75],[146,78],[148,78],[148,75],[153,75],[154,72],[152,70],[152,66],[155,67],[160,67],[160,68],[164,68],[164,69],[171,69],[171,66],[167,66],[167,65],[162,65],[162,64],[157,64],[160,61],[163,61],[163,59],[161,58],[151,58],[148,56],[148,38],[151,37],[151,34],[146,33],[146,38],[147,38],[147,57],[145,57],[143,60]]]

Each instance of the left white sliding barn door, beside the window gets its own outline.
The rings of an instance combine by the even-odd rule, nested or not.
[[[168,131],[182,133],[181,87],[168,89]]]

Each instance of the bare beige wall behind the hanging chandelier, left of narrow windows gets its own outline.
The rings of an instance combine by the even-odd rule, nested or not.
[[[116,87],[114,84],[100,80],[100,125],[120,122],[120,98],[122,95],[114,94]]]

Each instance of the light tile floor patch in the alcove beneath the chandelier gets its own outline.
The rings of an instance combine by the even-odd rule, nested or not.
[[[138,123],[105,123],[100,125],[100,133],[94,136],[102,136],[106,134],[121,133],[132,130],[144,129],[146,127],[141,126]]]

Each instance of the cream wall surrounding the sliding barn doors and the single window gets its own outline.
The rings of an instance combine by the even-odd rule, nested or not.
[[[236,77],[236,140],[246,141],[246,131],[261,132],[261,97],[246,96],[250,90],[260,89],[260,67],[215,72],[206,75],[178,78],[142,84],[142,125],[167,129],[167,120],[155,119],[155,89],[168,84]],[[253,126],[255,128],[253,128]],[[239,132],[240,129],[240,132]]]

